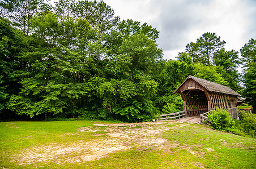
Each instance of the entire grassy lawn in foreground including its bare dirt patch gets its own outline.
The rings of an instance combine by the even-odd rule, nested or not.
[[[1,122],[0,168],[255,168],[256,139],[199,124]]]

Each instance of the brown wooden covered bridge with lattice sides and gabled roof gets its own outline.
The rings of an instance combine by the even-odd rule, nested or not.
[[[227,86],[189,75],[173,92],[180,93],[186,117],[227,109],[232,118],[238,118],[237,97],[241,96]]]

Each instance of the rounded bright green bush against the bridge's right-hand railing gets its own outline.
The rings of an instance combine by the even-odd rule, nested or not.
[[[208,119],[211,121],[211,127],[216,130],[225,130],[226,128],[231,128],[234,122],[229,115],[227,110],[212,110],[211,114],[208,115]]]

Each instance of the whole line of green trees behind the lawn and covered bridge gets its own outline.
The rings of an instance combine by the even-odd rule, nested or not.
[[[225,51],[215,33],[167,61],[156,28],[120,20],[103,1],[61,0],[52,7],[5,0],[0,6],[2,118],[150,121],[183,109],[173,91],[188,75],[241,90],[238,52]]]

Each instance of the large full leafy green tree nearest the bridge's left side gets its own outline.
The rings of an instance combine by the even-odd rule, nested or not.
[[[147,121],[153,117],[155,109],[152,99],[158,83],[154,75],[158,70],[157,61],[162,58],[162,50],[155,41],[158,32],[147,24],[127,20],[108,35],[109,64],[105,78],[109,81],[106,84],[112,87],[105,90],[107,95],[103,100],[108,101],[107,109],[111,107],[123,121]]]

